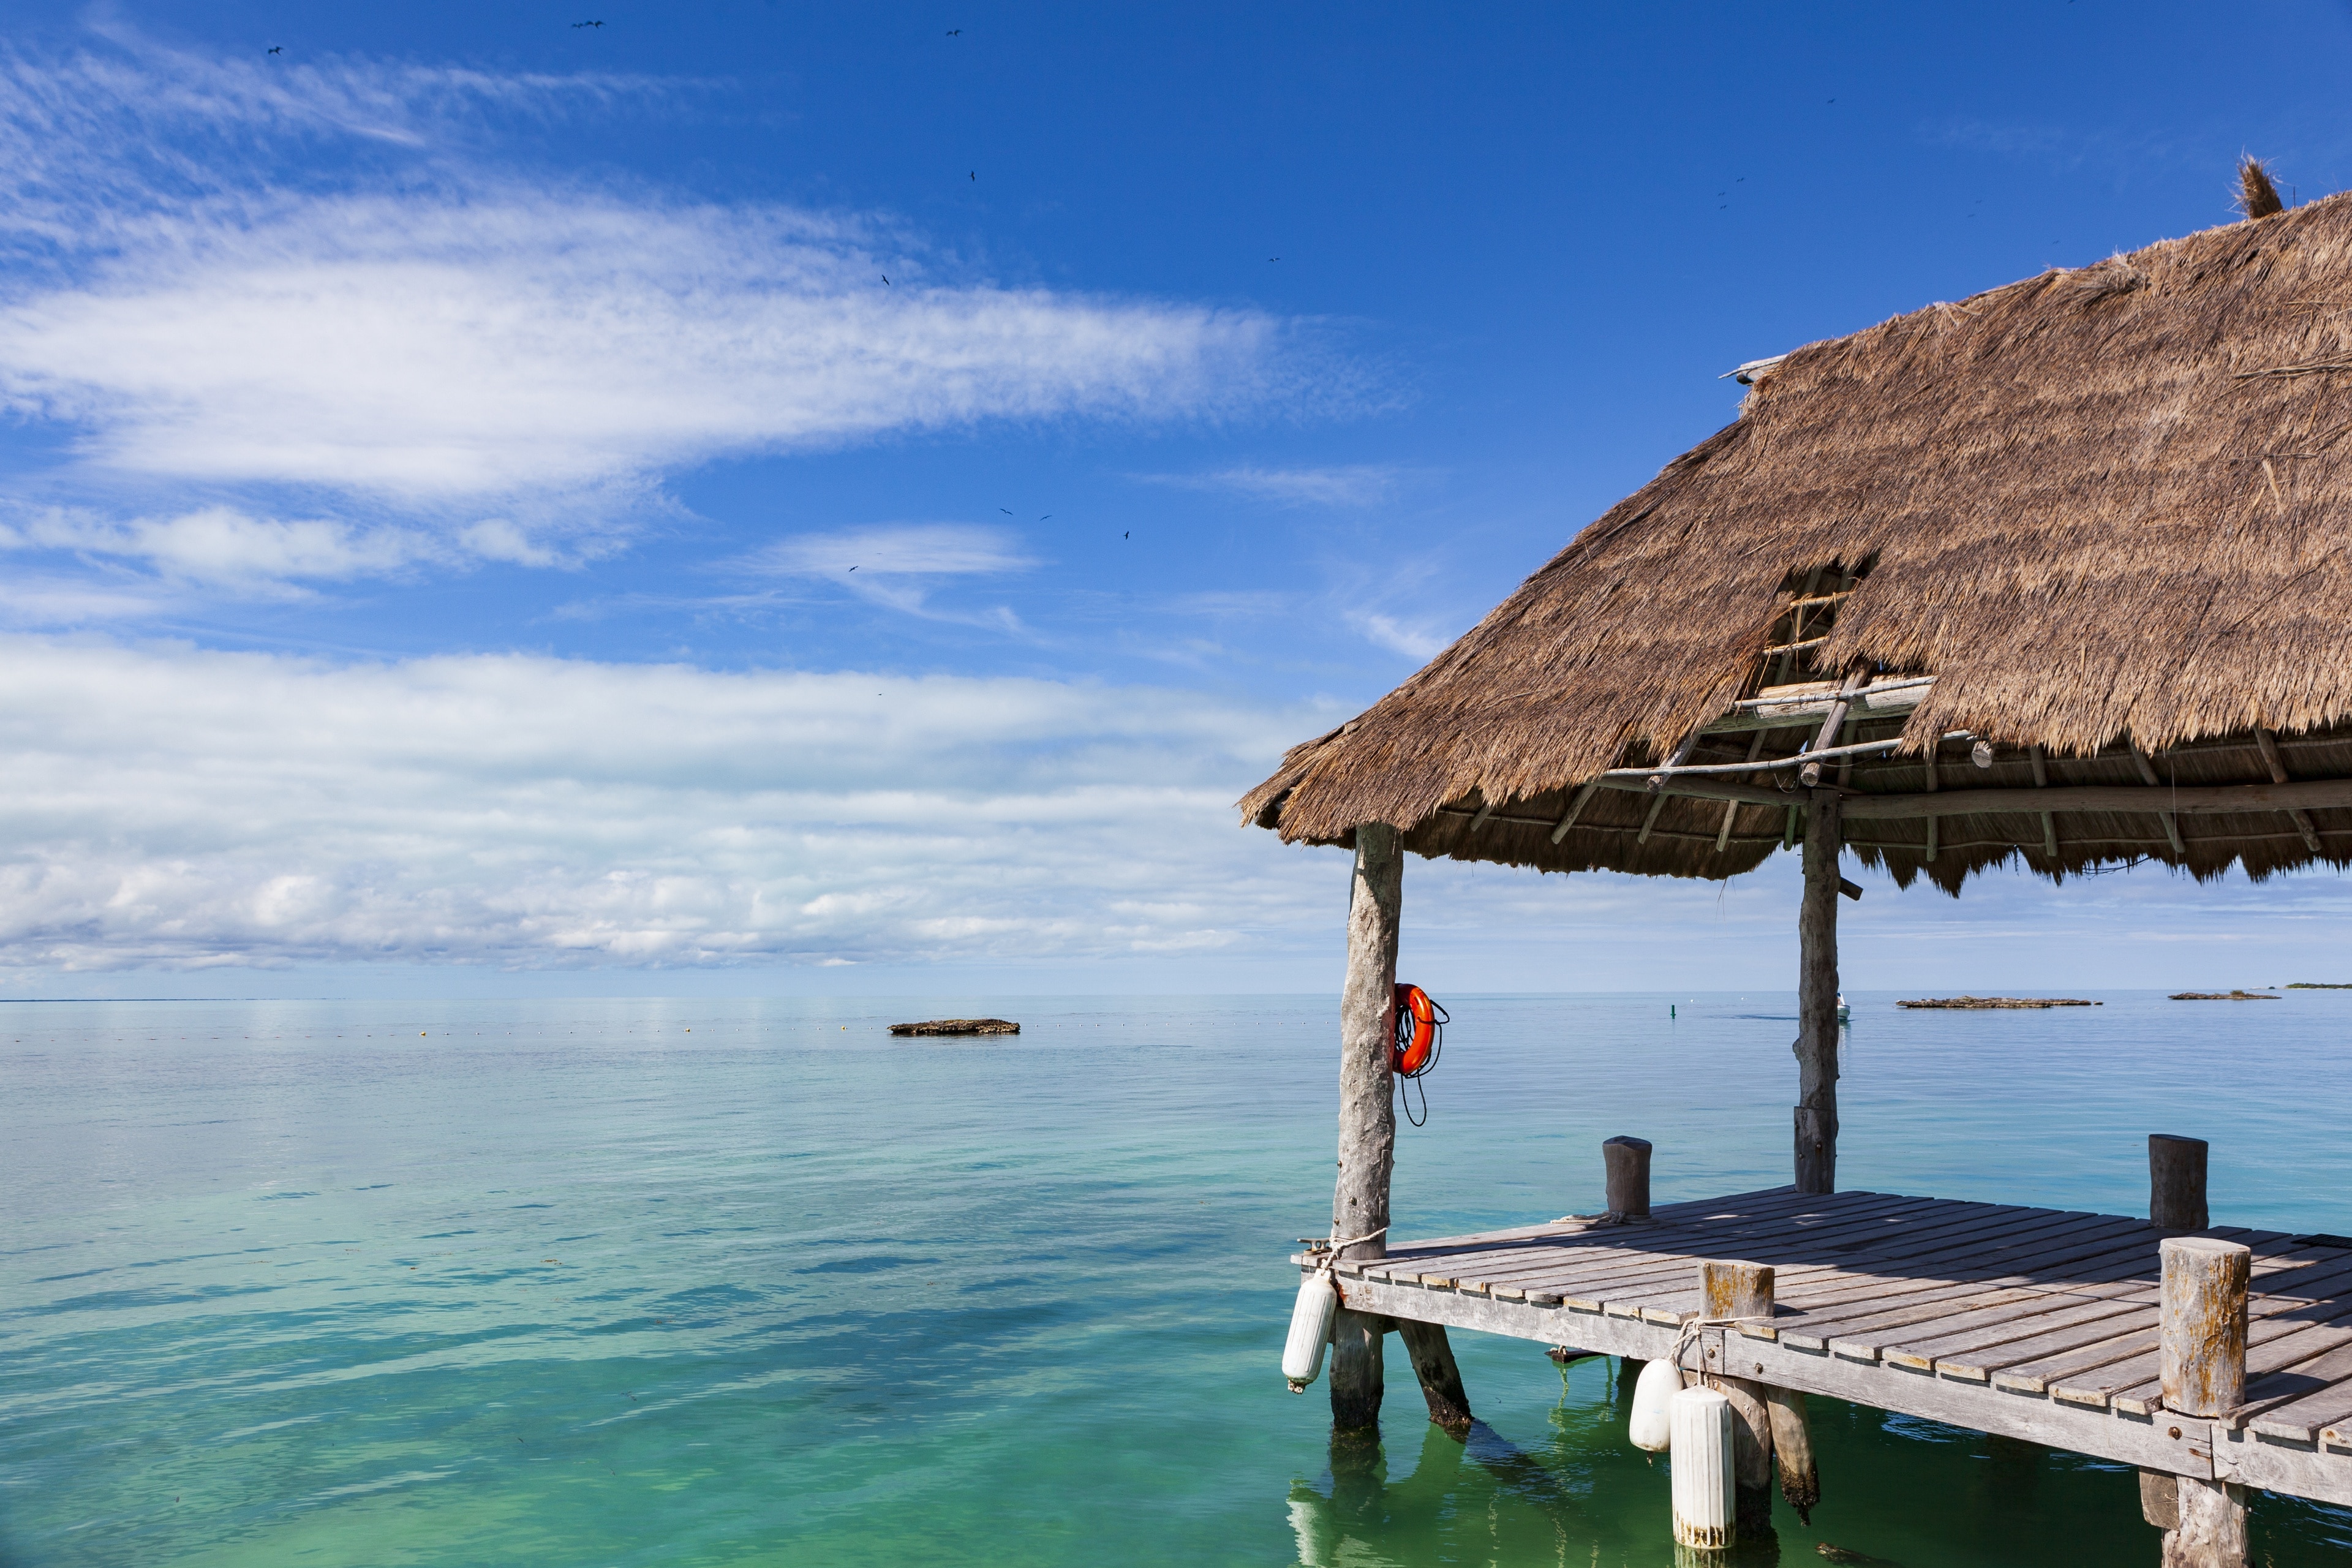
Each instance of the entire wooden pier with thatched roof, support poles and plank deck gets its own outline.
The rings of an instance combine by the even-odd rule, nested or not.
[[[1738,367],[1731,425],[1237,802],[1355,856],[1331,1232],[1282,1361],[1303,1392],[1329,1347],[1334,1443],[1378,1432],[1390,1328],[1468,1429],[1446,1331],[1482,1328],[1649,1363],[1628,1439],[1675,1455],[1677,1552],[1769,1530],[1773,1469],[1811,1507],[1804,1392],[2136,1465],[2166,1568],[2244,1568],[2249,1486],[2352,1505],[2352,1241],[2209,1229],[2194,1135],[2150,1138],[2147,1220],[1837,1192],[1849,849],[1947,893],[2352,865],[2352,557],[2307,545],[2352,463],[2279,447],[2345,390],[2305,378],[2347,374],[2310,308],[2352,275],[2352,193],[2241,183],[2246,223]],[[1729,879],[1780,851],[1792,1187],[1651,1213],[1618,1138],[1606,1225],[1399,1244],[1404,856]]]

